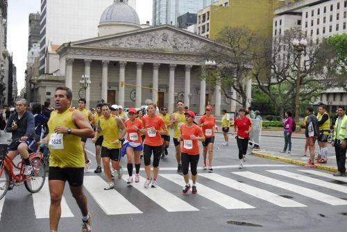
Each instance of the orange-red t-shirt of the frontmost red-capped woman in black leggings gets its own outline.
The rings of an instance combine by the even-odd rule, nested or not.
[[[190,135],[203,137],[203,131],[201,131],[200,126],[197,126],[196,124],[193,124],[192,127],[188,127],[186,124],[180,126],[180,138],[182,138],[180,150],[182,153],[197,156],[198,154],[200,154],[200,149],[198,148],[198,140],[192,140],[190,138]]]

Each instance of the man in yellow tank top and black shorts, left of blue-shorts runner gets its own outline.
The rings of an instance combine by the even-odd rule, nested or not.
[[[117,170],[118,178],[121,179],[121,139],[126,135],[126,127],[119,117],[111,115],[107,104],[101,106],[101,112],[103,118],[99,119],[97,131],[98,133],[103,133],[101,158],[103,159],[105,176],[108,180],[108,185],[104,190],[111,190],[115,185],[112,181],[110,160],[112,160],[112,167]]]

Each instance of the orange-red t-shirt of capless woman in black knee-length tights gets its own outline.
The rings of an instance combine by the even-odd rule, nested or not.
[[[142,122],[144,123],[144,128],[147,129],[144,144],[147,144],[151,147],[162,146],[162,136],[158,132],[155,133],[151,131],[150,128],[154,127],[155,130],[161,131],[165,127],[163,119],[158,115],[155,115],[154,117],[147,115],[142,117]]]

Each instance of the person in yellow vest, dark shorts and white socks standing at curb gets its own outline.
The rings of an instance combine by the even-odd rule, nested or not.
[[[330,135],[330,117],[326,112],[325,106],[321,105],[318,107],[318,126],[319,126],[319,154],[316,158],[317,163],[327,163],[328,162],[328,137]]]

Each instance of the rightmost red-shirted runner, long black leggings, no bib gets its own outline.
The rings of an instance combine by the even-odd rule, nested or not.
[[[248,117],[245,117],[245,110],[239,110],[239,117],[235,119],[234,131],[237,132],[237,147],[239,148],[239,168],[244,167],[249,141],[249,132],[252,130],[252,123]],[[234,133],[235,134],[235,133]]]

